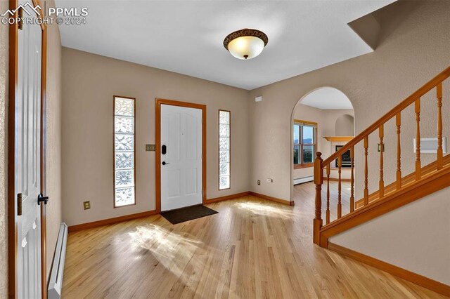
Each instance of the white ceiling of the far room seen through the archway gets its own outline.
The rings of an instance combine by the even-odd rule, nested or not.
[[[353,109],[347,95],[332,87],[316,89],[305,96],[300,104],[319,109]]]

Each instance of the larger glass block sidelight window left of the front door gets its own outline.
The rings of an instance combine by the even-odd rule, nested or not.
[[[114,207],[136,204],[134,98],[114,97]]]

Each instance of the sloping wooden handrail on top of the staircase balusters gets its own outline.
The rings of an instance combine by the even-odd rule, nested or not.
[[[420,87],[416,92],[409,95],[408,98],[406,98],[403,102],[401,102],[399,105],[395,106],[393,109],[391,109],[389,112],[387,112],[383,117],[380,117],[378,121],[375,121],[371,126],[366,128],[366,130],[359,133],[355,138],[347,142],[346,145],[340,148],[338,152],[335,152],[331,154],[330,157],[322,161],[321,168],[326,167],[327,164],[330,164],[333,160],[337,159],[338,157],[342,156],[347,150],[349,150],[350,147],[353,147],[357,143],[359,143],[361,140],[364,140],[366,136],[371,134],[373,131],[378,129],[382,124],[385,124],[387,121],[392,119],[392,117],[395,117],[401,110],[405,109],[409,105],[411,105],[414,101],[416,101],[418,98],[425,95],[425,93],[428,93],[428,91],[431,91],[432,88],[435,88],[439,83],[444,81],[445,79],[450,77],[450,67],[447,67],[444,69],[443,72],[438,74],[436,77],[428,81],[425,85]]]

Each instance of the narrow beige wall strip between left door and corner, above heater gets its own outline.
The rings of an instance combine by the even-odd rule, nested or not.
[[[54,7],[54,1],[46,1]],[[47,274],[50,275],[53,253],[62,221],[61,197],[61,40],[58,25],[47,27],[46,89],[46,195],[47,204]]]

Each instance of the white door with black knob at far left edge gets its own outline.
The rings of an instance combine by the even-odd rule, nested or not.
[[[26,2],[20,1],[20,4]],[[36,15],[33,13],[31,17]],[[15,105],[15,194],[18,211],[18,298],[41,298],[41,27],[24,22],[18,33],[18,99]],[[19,208],[18,204],[18,210]]]

